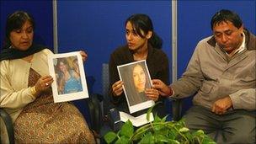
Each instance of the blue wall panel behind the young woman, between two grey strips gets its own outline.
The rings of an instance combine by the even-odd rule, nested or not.
[[[147,13],[163,38],[163,51],[171,60],[171,1],[58,1],[59,53],[84,50],[87,76],[93,76],[94,93],[102,93],[102,64],[117,46],[125,44],[125,19]]]

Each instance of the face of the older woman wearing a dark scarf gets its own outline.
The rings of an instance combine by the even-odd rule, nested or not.
[[[14,49],[26,51],[32,45],[33,36],[33,26],[29,21],[26,21],[21,29],[13,29],[9,39]]]

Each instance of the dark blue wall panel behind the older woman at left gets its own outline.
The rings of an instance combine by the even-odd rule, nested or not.
[[[5,39],[5,24],[8,14],[17,10],[30,13],[35,19],[35,37],[37,43],[49,46],[53,50],[53,17],[51,1],[1,0],[0,1],[0,45]]]

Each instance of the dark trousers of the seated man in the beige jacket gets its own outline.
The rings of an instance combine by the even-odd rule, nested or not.
[[[210,109],[193,106],[184,115],[184,121],[191,131],[203,130],[218,144],[256,143],[255,111],[236,109],[216,115]]]

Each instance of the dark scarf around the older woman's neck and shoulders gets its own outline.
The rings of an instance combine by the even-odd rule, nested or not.
[[[27,51],[19,51],[13,48],[4,48],[0,54],[0,61],[23,58],[26,56],[33,55],[36,52],[42,51],[44,49],[46,49],[46,46],[35,44],[31,45]]]

